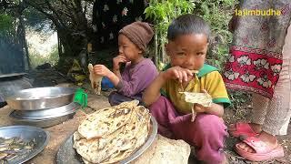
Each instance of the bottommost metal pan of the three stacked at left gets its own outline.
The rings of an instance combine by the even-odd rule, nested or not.
[[[73,118],[75,115],[75,110],[73,110],[71,113],[57,118],[49,118],[49,119],[17,119],[12,118],[12,121],[15,125],[29,125],[29,126],[35,126],[39,128],[48,128],[53,127],[57,124],[60,124],[62,122],[65,122],[66,120]]]

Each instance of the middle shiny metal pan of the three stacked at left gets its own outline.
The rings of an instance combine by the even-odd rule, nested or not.
[[[77,110],[78,108],[80,108],[80,105],[72,102],[68,105],[58,108],[47,108],[42,110],[14,110],[10,113],[10,117],[18,119],[56,118],[72,113],[72,110]]]

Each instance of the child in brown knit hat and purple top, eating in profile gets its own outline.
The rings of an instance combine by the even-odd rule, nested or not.
[[[134,22],[119,31],[119,55],[113,59],[113,72],[103,65],[95,65],[96,75],[107,77],[117,89],[109,95],[109,103],[115,106],[124,101],[138,99],[141,101],[142,92],[157,76],[154,63],[144,58],[146,46],[154,32],[145,22]],[[123,74],[120,64],[125,63]]]

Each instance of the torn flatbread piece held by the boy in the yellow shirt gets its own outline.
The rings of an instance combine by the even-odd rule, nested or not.
[[[195,92],[180,92],[185,95],[185,101],[191,104],[200,104],[203,107],[210,107],[212,104],[212,97],[206,93],[195,93]],[[192,106],[192,119],[193,122],[196,118],[196,111]]]

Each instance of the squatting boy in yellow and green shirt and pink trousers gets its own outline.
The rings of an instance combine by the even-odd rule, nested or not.
[[[221,117],[230,101],[216,67],[205,64],[209,36],[209,26],[201,17],[177,17],[167,30],[170,65],[146,88],[143,100],[156,118],[161,135],[186,140],[196,147],[197,159],[217,164],[226,162],[223,148],[227,133]],[[197,77],[191,70],[198,70]],[[194,122],[192,105],[179,93],[181,87],[186,92],[205,92],[213,98],[211,107],[194,105]]]

